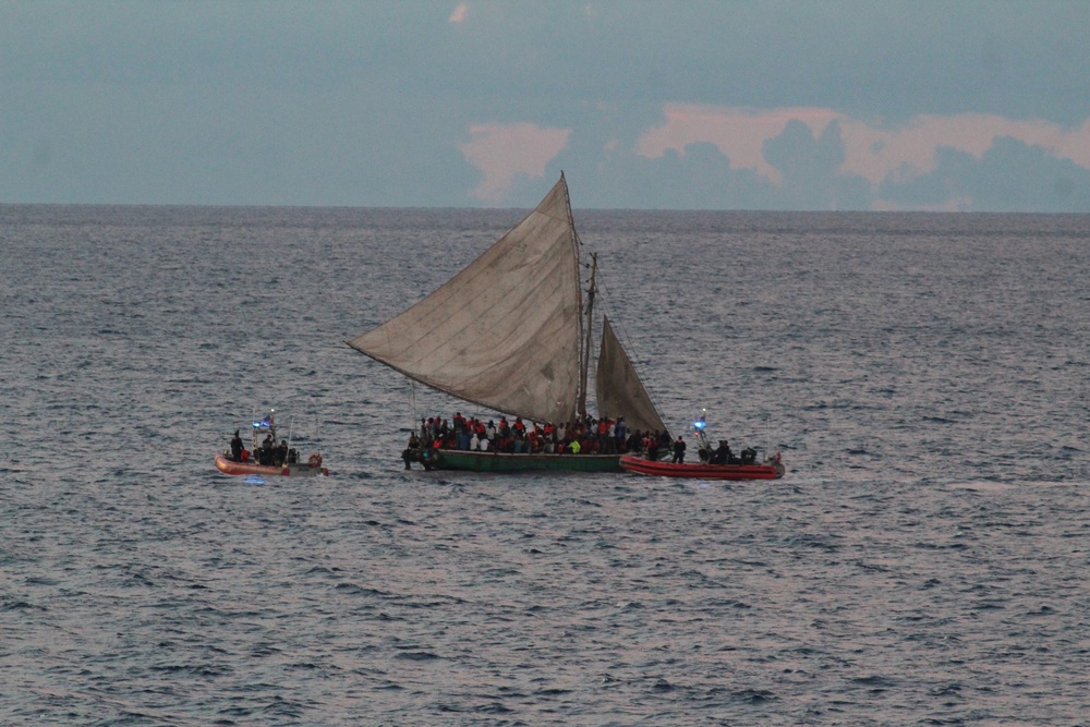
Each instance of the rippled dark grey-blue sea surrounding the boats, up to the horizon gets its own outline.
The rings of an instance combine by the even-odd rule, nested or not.
[[[1090,724],[1090,216],[577,207],[786,476],[404,472],[486,412],[344,341],[524,214],[0,206],[0,724]]]

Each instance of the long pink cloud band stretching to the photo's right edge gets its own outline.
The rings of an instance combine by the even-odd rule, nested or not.
[[[899,126],[881,128],[831,109],[783,108],[770,110],[669,104],[665,121],[639,140],[637,152],[657,158],[667,149],[685,152],[688,144],[715,144],[736,169],[753,169],[778,182],[761,147],[778,136],[787,123],[799,120],[816,135],[838,121],[845,145],[840,171],[879,183],[891,177],[923,174],[935,166],[935,149],[948,146],[978,159],[998,136],[1012,136],[1044,147],[1059,158],[1090,169],[1090,120],[1074,130],[1040,120],[1015,121],[988,114],[918,116]]]

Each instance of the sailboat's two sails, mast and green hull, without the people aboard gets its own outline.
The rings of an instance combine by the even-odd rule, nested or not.
[[[584,310],[581,245],[561,172],[541,204],[476,259],[348,344],[413,381],[492,411],[541,424],[573,422],[588,411],[597,271],[594,255]],[[667,432],[608,318],[602,331],[598,416],[623,417],[630,432]],[[426,468],[449,470],[621,471],[616,453],[422,455]]]

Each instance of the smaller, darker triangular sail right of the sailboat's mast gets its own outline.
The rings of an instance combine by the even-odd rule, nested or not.
[[[598,416],[625,417],[630,432],[665,432],[658,410],[640,380],[631,359],[614,334],[609,318],[602,322],[602,353],[595,374]]]

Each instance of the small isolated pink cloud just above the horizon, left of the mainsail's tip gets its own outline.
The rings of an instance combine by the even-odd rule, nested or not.
[[[484,173],[473,196],[498,203],[520,174],[544,177],[545,165],[568,145],[570,134],[570,129],[543,129],[533,123],[470,126],[472,140],[458,148],[467,161]]]

